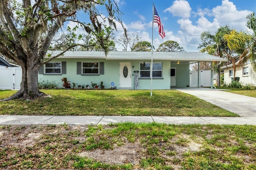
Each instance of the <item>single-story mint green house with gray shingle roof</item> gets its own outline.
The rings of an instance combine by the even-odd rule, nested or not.
[[[48,51],[52,56],[61,51]],[[48,56],[46,56],[48,58]],[[77,85],[100,84],[105,88],[152,89],[187,87],[190,84],[190,63],[227,61],[201,52],[154,51],[66,51],[39,69],[38,81],[55,81],[62,87],[66,77]],[[71,84],[72,85],[72,84]]]

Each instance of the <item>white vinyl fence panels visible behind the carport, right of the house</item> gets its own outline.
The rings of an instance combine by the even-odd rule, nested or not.
[[[190,87],[197,87],[198,85],[197,71],[190,71]],[[211,71],[199,71],[199,87],[211,87]]]

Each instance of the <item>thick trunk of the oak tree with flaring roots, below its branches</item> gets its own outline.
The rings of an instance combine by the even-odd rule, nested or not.
[[[32,57],[33,58],[33,57]],[[3,99],[2,101],[8,101],[18,98],[23,99],[34,99],[38,96],[44,95],[44,93],[40,92],[38,89],[38,63],[33,62],[34,59],[28,57],[28,61],[26,64],[21,64],[22,68],[22,81],[20,85],[20,90],[8,97]]]

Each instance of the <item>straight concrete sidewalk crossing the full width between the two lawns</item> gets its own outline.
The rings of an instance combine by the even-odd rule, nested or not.
[[[0,125],[107,125],[110,123],[166,123],[256,125],[256,117],[165,117],[165,116],[22,116],[0,115]]]

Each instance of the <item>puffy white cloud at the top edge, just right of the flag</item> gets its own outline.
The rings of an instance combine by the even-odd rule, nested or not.
[[[164,12],[170,12],[173,16],[179,16],[181,18],[189,18],[191,7],[186,0],[176,0],[172,3],[172,6],[166,8]]]

